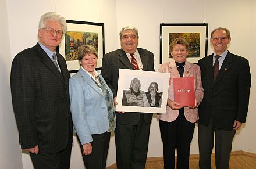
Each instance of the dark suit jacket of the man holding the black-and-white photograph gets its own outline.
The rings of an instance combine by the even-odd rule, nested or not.
[[[146,49],[138,48],[143,70],[155,71],[154,54]],[[118,90],[119,69],[133,69],[126,53],[122,49],[112,51],[103,56],[101,75],[104,77],[109,88],[112,89],[113,96],[116,97]],[[119,103],[122,104],[122,103]],[[145,123],[150,123],[152,113],[143,113]],[[140,113],[116,113],[117,124],[137,125],[140,120]]]

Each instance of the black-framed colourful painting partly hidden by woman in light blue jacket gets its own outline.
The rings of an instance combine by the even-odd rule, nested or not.
[[[79,68],[77,60],[77,48],[81,45],[92,45],[98,52],[97,67],[95,70],[101,70],[101,60],[104,55],[104,23],[93,23],[87,21],[67,21],[67,32],[63,35],[62,42],[59,45],[59,53],[67,62],[69,73],[76,73]]]

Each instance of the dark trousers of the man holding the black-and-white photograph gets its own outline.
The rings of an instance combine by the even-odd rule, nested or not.
[[[117,124],[115,130],[116,164],[118,169],[144,169],[148,153],[150,123],[143,113],[137,125]]]

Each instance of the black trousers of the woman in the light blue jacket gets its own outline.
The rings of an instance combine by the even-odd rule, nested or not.
[[[87,169],[105,169],[111,132],[93,134],[91,136],[93,137],[93,142],[91,142],[93,150],[88,156],[83,154],[83,145],[81,144],[80,139],[77,136],[83,156],[84,166],[86,166]]]

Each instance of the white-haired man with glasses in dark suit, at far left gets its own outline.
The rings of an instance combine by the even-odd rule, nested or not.
[[[70,75],[65,59],[55,51],[66,30],[65,18],[45,13],[39,22],[39,42],[12,62],[10,85],[19,142],[29,150],[34,168],[70,166]]]

